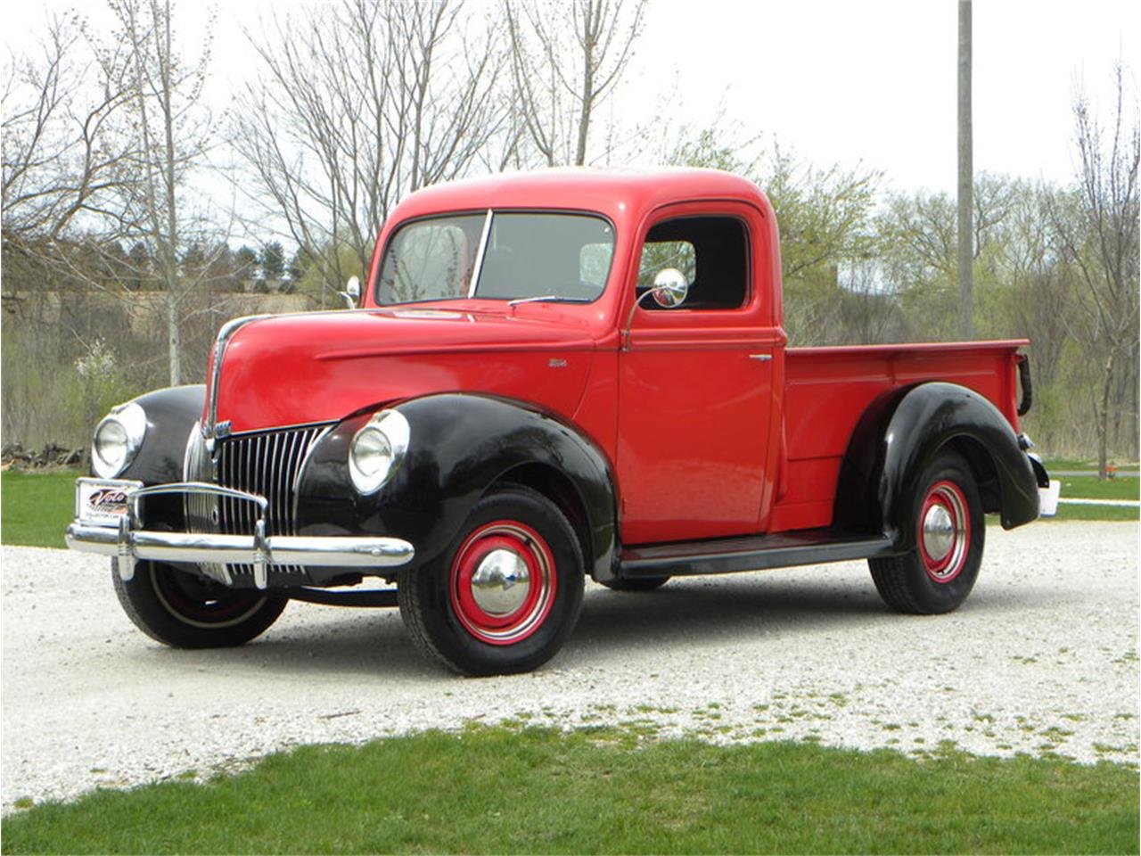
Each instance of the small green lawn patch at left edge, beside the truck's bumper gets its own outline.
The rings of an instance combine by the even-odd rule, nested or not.
[[[63,547],[64,530],[75,516],[74,469],[0,474],[0,541],[26,547]]]

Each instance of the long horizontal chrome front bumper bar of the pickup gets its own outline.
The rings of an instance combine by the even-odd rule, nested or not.
[[[120,530],[115,526],[76,520],[67,527],[66,541],[73,550],[120,555]],[[267,565],[310,567],[399,567],[415,556],[412,544],[399,538],[272,535],[261,541],[259,550],[258,539],[252,535],[147,532],[129,527],[123,549],[136,559],[234,565],[257,565],[262,552],[268,554]]]

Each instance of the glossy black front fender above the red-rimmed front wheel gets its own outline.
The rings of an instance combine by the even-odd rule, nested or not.
[[[348,452],[371,414],[335,425],[313,447],[300,474],[299,534],[394,535],[411,541],[416,564],[422,564],[451,543],[492,485],[539,468],[572,486],[584,517],[583,558],[596,576],[609,574],[614,482],[606,455],[589,438],[549,413],[488,396],[430,395],[394,409],[407,419],[411,437],[397,474],[375,494],[359,495],[349,477]]]

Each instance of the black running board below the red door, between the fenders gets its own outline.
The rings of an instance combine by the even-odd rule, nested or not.
[[[895,552],[887,535],[852,534],[828,528],[801,530],[772,535],[631,547],[618,557],[617,576],[620,580],[636,580],[639,576],[729,574],[869,559]]]

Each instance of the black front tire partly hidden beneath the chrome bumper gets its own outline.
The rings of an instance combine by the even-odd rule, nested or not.
[[[140,562],[123,582],[112,563],[115,595],[127,616],[155,641],[176,648],[229,648],[244,645],[277,621],[286,598],[225,586]]]

